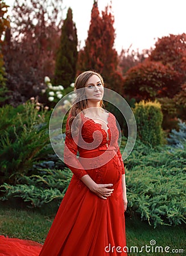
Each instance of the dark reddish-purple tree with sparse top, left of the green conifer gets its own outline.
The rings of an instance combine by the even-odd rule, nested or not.
[[[61,0],[14,1],[11,30],[6,31],[3,47],[7,86],[12,91],[9,104],[18,106],[36,97],[45,87],[44,77],[52,77],[60,39],[60,10]]]

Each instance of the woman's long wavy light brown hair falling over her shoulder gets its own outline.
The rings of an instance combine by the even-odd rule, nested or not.
[[[76,100],[73,102],[73,105],[69,111],[69,118],[67,120],[68,122],[68,127],[69,129],[66,131],[67,135],[71,135],[71,126],[72,126],[72,122],[75,119],[76,115],[78,115],[82,110],[87,108],[87,100],[86,100],[86,96],[85,96],[85,90],[78,90],[81,88],[85,88],[88,80],[90,77],[92,77],[93,75],[96,75],[100,78],[102,85],[104,86],[104,80],[102,78],[102,76],[94,71],[85,71],[83,73],[81,73],[80,75],[78,75],[76,81],[75,81],[75,92],[76,92]],[[102,108],[104,106],[103,101],[100,101],[100,108]],[[75,126],[77,128],[76,131],[72,131],[75,134],[78,134],[78,124],[80,123],[80,118],[76,118],[75,120]]]

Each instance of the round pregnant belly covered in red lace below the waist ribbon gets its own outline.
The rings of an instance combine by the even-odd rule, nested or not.
[[[97,184],[117,184],[121,179],[121,163],[115,151],[94,152],[86,154],[81,160],[86,172]],[[83,156],[85,157],[85,156]],[[92,168],[93,167],[93,168]]]

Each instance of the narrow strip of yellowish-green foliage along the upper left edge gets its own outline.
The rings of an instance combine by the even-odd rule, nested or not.
[[[0,2],[0,104],[7,100],[7,87],[6,87],[6,72],[4,67],[4,60],[2,54],[2,46],[4,43],[3,35],[7,28],[10,27],[9,18],[6,17],[7,6],[4,1]]]

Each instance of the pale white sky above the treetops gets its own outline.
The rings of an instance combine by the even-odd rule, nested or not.
[[[13,0],[5,0],[11,5]],[[158,38],[186,33],[186,0],[98,0],[98,9],[110,4],[114,15],[115,44],[123,49],[150,49]],[[63,18],[72,8],[82,48],[88,35],[93,0],[63,0]]]

